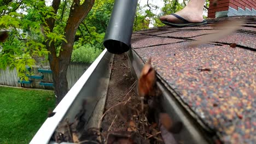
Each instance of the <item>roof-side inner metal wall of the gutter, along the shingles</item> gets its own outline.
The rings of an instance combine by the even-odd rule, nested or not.
[[[129,57],[129,66],[133,68],[132,72],[139,77],[141,69],[144,65],[142,58],[140,58],[137,53],[131,49],[126,53]],[[157,85],[162,91],[164,97],[164,108],[167,113],[171,116],[174,122],[182,122],[183,129],[179,134],[173,134],[174,138],[178,143],[215,143],[217,139],[216,133],[209,129],[205,124],[203,124],[193,112],[189,112],[189,107],[186,107],[181,103],[176,92],[168,86],[168,84],[161,79],[158,75]]]

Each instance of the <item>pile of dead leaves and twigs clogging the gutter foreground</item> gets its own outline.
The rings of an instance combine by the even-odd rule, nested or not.
[[[136,86],[133,83],[131,89]],[[144,65],[138,80],[138,97],[123,100],[106,110],[98,123],[98,128],[84,130],[86,110],[75,116],[73,123],[67,120],[59,124],[53,135],[55,142],[74,143],[176,143],[172,133],[179,133],[182,123],[173,123],[171,117],[164,111],[162,94],[156,86],[156,72],[149,61]],[[127,96],[127,95],[126,95]],[[125,96],[125,97],[126,97]],[[110,112],[115,112],[107,131],[101,130],[101,121]],[[110,131],[115,122],[123,121],[126,130]]]

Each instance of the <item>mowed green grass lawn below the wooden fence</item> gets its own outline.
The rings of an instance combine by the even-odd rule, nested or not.
[[[0,143],[29,143],[54,107],[53,91],[0,86]]]

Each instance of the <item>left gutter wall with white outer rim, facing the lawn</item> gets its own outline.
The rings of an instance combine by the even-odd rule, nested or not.
[[[105,49],[97,57],[56,106],[53,111],[55,115],[46,119],[36,135],[34,135],[30,142],[31,144],[49,143],[60,122],[64,121],[64,119],[73,122],[75,115],[82,109],[83,100],[87,101],[85,119],[88,123],[85,128],[97,127],[104,110],[113,56],[112,53]],[[50,143],[55,142],[51,141]]]

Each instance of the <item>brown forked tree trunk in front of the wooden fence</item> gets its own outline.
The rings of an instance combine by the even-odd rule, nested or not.
[[[68,92],[68,82],[67,82],[67,68],[71,59],[73,44],[75,39],[75,33],[80,25],[80,23],[88,15],[95,0],[85,0],[83,4],[80,1],[74,0],[70,8],[69,17],[65,27],[65,41],[62,41],[61,50],[59,56],[56,56],[55,45],[49,41],[46,41],[46,49],[50,51],[48,60],[50,62],[50,68],[53,71],[53,81],[54,81],[54,92],[56,98],[56,105],[65,97]],[[52,7],[57,13],[59,9],[60,0],[54,0]],[[55,25],[54,19],[47,20],[47,26],[49,26],[50,31],[53,32]]]

